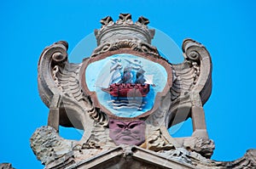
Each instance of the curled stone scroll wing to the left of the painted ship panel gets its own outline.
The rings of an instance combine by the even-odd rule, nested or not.
[[[90,96],[82,91],[82,64],[67,60],[67,42],[56,42],[45,48],[38,63],[38,89],[41,99],[49,107],[49,126],[58,125],[84,129],[93,119],[104,123],[107,117],[96,111]],[[86,121],[86,122],[85,122]],[[88,123],[91,123],[89,125]]]

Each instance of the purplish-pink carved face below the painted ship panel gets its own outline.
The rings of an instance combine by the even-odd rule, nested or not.
[[[119,144],[139,145],[145,141],[144,121],[109,121],[109,137]]]

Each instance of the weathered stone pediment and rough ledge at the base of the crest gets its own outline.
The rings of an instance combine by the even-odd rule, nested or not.
[[[159,136],[159,134],[156,134],[153,138],[157,137],[157,135]],[[154,140],[158,139],[160,138],[155,138]],[[158,141],[154,142],[155,144],[158,143]],[[161,142],[158,144],[161,144]],[[143,148],[143,145],[140,148],[124,144],[119,146],[107,144],[101,147],[90,144],[90,142],[86,145],[79,146],[79,143],[76,141],[61,138],[53,127],[40,127],[31,138],[32,149],[35,155],[38,156],[38,160],[46,165],[46,169],[88,168],[89,166],[91,168],[171,167],[166,166],[167,164],[175,166],[174,168],[223,169],[256,167],[256,149],[247,150],[246,155],[236,161],[226,162],[207,159],[201,154],[205,153],[203,151],[205,149],[211,150],[214,144],[212,140],[207,140],[206,138],[186,138],[184,140],[184,147],[189,150],[184,148],[173,149],[173,145],[168,144],[165,146],[162,144],[160,147],[151,145],[151,148]],[[207,148],[201,149],[204,146],[207,146]],[[191,151],[192,148],[194,151]],[[196,151],[199,151],[199,153],[196,153]],[[207,151],[207,153],[209,152]],[[108,161],[108,164],[103,161]],[[3,166],[9,167],[9,165]]]

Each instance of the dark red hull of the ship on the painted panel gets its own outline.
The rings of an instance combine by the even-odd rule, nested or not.
[[[102,91],[111,94],[113,97],[146,97],[149,92],[149,84],[113,83],[108,88],[102,88]]]

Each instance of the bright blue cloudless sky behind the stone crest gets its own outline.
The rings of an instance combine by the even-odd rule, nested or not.
[[[69,43],[70,53],[100,28],[99,20],[107,15],[117,20],[119,13],[131,13],[134,20],[147,17],[151,26],[179,47],[187,37],[207,47],[213,88],[204,108],[208,133],[216,144],[212,159],[232,161],[247,149],[256,149],[255,8],[253,1],[220,0],[2,2],[0,162],[11,162],[15,168],[43,168],[29,146],[32,133],[47,123],[48,115],[38,96],[39,55],[59,40]],[[178,131],[180,136],[189,136],[187,126],[186,122]],[[62,134],[67,135],[69,131]]]

